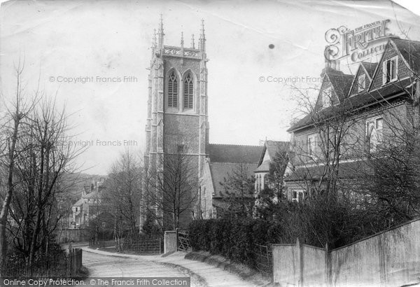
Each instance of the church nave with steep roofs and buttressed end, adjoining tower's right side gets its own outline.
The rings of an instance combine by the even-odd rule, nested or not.
[[[226,180],[238,168],[251,179],[253,171],[258,167],[262,146],[239,146],[228,144],[209,144],[204,163],[203,175],[200,179],[200,207],[202,218],[218,218],[230,209],[229,197],[241,195],[228,194]],[[247,194],[247,202],[253,204],[254,195]]]

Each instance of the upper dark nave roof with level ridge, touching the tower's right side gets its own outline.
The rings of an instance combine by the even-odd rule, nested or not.
[[[257,163],[262,146],[239,146],[232,144],[209,144],[207,154],[210,162]]]

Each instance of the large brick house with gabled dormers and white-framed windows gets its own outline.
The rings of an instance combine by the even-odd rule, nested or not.
[[[419,120],[419,65],[420,42],[400,38],[389,38],[380,61],[360,62],[354,75],[326,62],[314,111],[288,129],[295,154],[289,200],[323,193],[332,170],[339,181],[356,179],[363,159],[398,125]]]

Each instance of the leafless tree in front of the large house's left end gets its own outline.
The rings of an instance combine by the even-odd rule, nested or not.
[[[347,97],[350,76],[338,71],[328,76],[331,80],[326,83],[331,87],[333,78],[335,89],[293,86],[304,125],[314,134],[314,137],[292,139],[293,163],[300,166],[300,180],[302,188],[308,191],[307,196],[322,192],[336,197],[340,162],[353,156],[360,146],[363,151],[363,139],[355,131],[358,118]],[[315,101],[311,96],[313,92],[318,94]]]

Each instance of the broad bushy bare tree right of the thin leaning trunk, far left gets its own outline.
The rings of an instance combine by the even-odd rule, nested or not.
[[[15,158],[15,185],[10,232],[15,246],[34,262],[36,252],[48,253],[52,232],[60,219],[57,195],[66,172],[73,172],[73,160],[83,151],[70,146],[69,126],[64,109],[55,100],[44,99],[22,123],[19,155]]]

